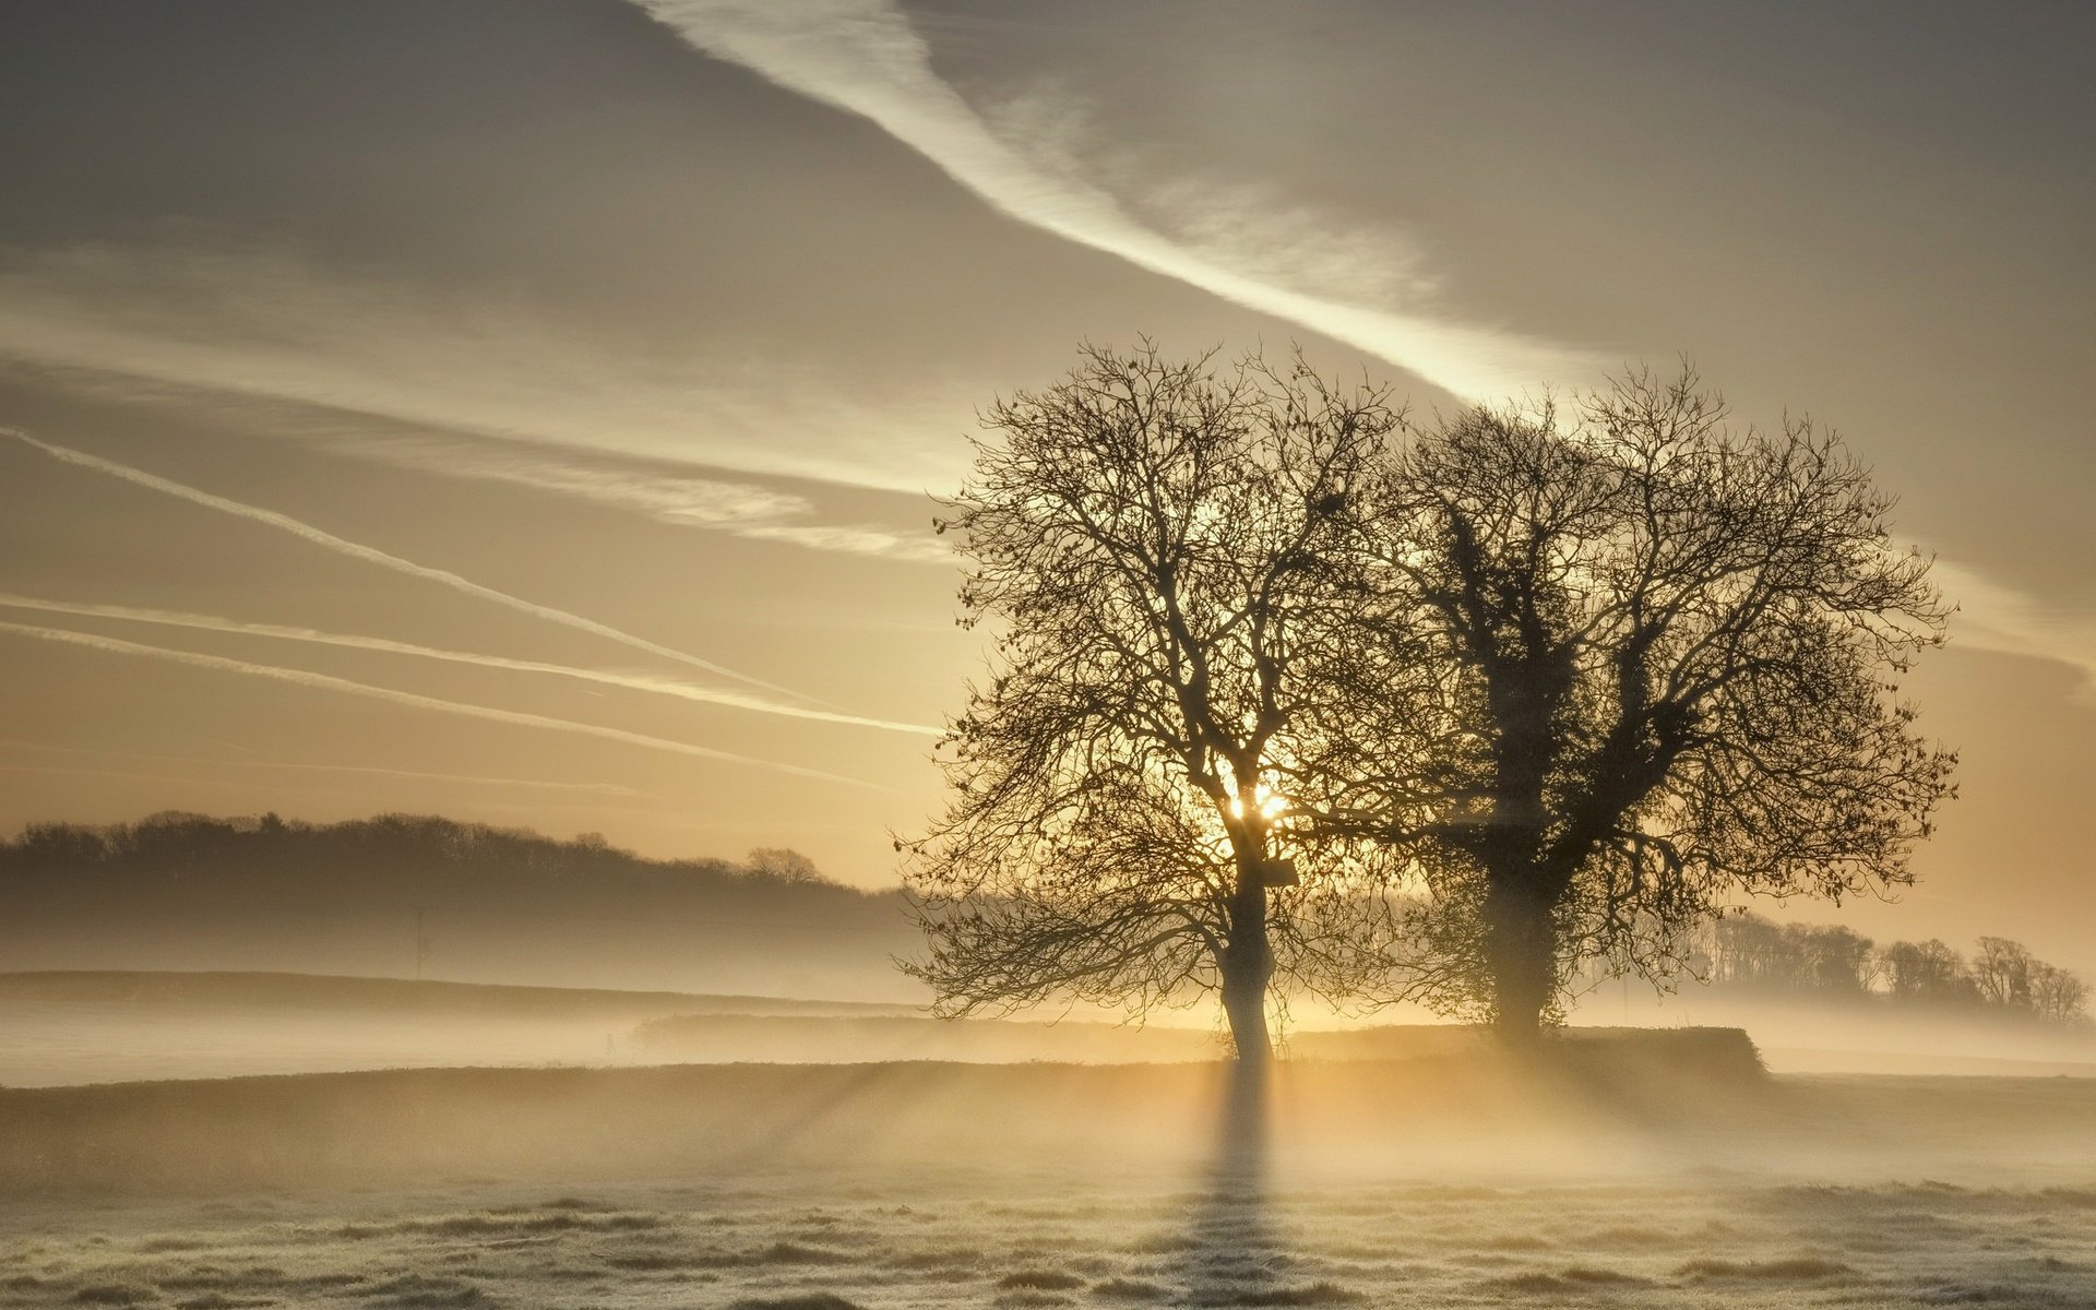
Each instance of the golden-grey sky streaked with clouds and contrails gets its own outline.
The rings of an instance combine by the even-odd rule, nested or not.
[[[436,811],[891,885],[931,530],[1077,342],[1417,413],[1691,358],[1901,497],[1880,937],[2096,970],[2075,4],[13,0],[0,830]],[[1830,918],[1824,908],[1794,908]]]

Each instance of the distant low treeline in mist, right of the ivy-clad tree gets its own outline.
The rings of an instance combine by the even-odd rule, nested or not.
[[[1710,924],[1689,964],[1715,987],[2090,1021],[2088,983],[2006,937],[1981,937],[1960,956],[1935,939],[1880,947],[1853,929],[1740,914]]]

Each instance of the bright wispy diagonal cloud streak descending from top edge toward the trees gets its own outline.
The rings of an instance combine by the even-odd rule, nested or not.
[[[1136,220],[1111,193],[1035,163],[933,69],[887,0],[635,0],[687,44],[861,115],[991,208],[1046,233],[1346,342],[1463,398],[1499,398],[1585,373],[1591,361],[1520,333],[1300,291]]]

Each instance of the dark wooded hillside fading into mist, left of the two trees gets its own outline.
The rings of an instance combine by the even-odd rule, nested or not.
[[[8,968],[425,973],[457,981],[872,996],[916,933],[895,891],[794,851],[646,859],[434,815],[159,813],[0,843]]]

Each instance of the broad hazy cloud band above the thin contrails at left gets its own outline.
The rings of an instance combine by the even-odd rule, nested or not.
[[[606,340],[528,302],[348,277],[283,247],[0,249],[0,354],[92,369],[103,386],[897,493],[956,484],[964,459],[952,396],[861,405],[790,361],[702,367],[679,342]]]

